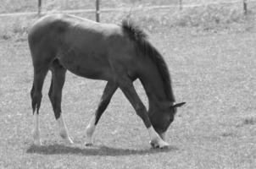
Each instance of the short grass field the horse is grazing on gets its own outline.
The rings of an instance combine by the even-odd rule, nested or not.
[[[58,136],[47,98],[51,78],[48,74],[42,91],[43,145],[33,145],[32,65],[26,32],[35,18],[1,18],[1,23],[5,23],[0,25],[1,169],[256,168],[254,15],[243,18],[228,13],[227,19],[223,17],[227,16],[225,13],[218,13],[213,15],[220,19],[216,22],[213,16],[204,16],[198,9],[184,12],[178,19],[164,12],[151,14],[158,15],[134,14],[133,18],[144,20],[140,25],[150,32],[151,41],[168,63],[176,100],[187,103],[168,131],[170,148],[150,148],[142,120],[120,90],[97,126],[95,145],[86,147],[86,125],[105,82],[70,73],[64,86],[63,112],[75,144],[64,144]],[[103,14],[103,21],[117,23],[122,17]],[[181,22],[170,23],[169,19]],[[142,85],[138,81],[135,84],[147,105]]]

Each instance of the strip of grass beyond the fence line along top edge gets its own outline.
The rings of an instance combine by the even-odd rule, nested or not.
[[[225,0],[225,3],[236,2],[236,0]],[[138,7],[150,5],[179,5],[180,0],[100,0],[101,8]],[[251,4],[250,1],[248,1]],[[222,0],[182,0],[182,4],[205,4],[223,3]],[[31,12],[37,11],[37,0],[3,0],[0,6],[1,13]],[[242,8],[242,0],[239,3]],[[87,9],[95,8],[95,0],[42,0],[42,9],[64,10],[64,9]]]

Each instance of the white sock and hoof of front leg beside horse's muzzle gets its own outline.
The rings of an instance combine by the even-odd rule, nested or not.
[[[150,136],[150,144],[153,146],[153,148],[164,148],[169,146],[168,143],[160,138],[159,134],[157,134],[153,126],[147,128],[147,130]]]

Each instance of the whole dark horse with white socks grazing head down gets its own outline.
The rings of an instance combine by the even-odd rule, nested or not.
[[[32,26],[28,41],[34,66],[31,100],[36,144],[41,144],[38,116],[42,85],[48,70],[52,72],[48,95],[60,127],[60,136],[73,143],[61,114],[65,74],[70,70],[85,78],[107,81],[97,111],[86,128],[86,145],[92,145],[92,134],[98,120],[115,90],[120,88],[147,127],[152,146],[168,146],[164,134],[174,120],[176,107],[185,103],[175,104],[166,63],[141,29],[127,20],[122,25],[110,25],[67,14],[54,14],[39,19]],[[146,90],[148,112],[134,88],[135,79],[140,79]]]

